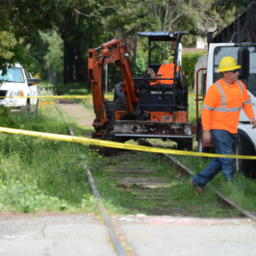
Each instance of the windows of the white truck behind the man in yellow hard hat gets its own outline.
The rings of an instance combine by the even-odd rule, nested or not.
[[[243,79],[243,83],[247,90],[256,96],[256,48],[248,47],[248,50],[250,59],[249,77],[247,79]],[[238,63],[238,51],[239,47],[237,46],[220,46],[215,49],[214,82],[221,77],[221,74],[216,71],[218,69],[220,60],[225,56],[231,56],[235,58],[236,62]]]

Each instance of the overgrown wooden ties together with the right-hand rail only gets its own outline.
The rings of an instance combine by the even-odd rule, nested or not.
[[[149,162],[148,157],[143,156],[141,152],[122,152],[118,156],[107,157],[108,183],[133,198],[131,211],[155,216],[190,217],[206,217],[218,211],[218,217],[244,216],[256,221],[254,214],[244,210],[211,185],[207,186],[207,190],[212,190],[216,198],[195,198],[189,185],[189,179],[194,173],[172,156],[165,155],[161,159],[152,154],[156,160]],[[159,165],[163,162],[163,165],[158,167],[157,161]],[[163,171],[163,168],[166,170]]]

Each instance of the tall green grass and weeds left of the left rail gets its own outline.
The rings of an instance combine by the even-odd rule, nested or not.
[[[54,104],[39,106],[38,115],[10,115],[1,107],[2,126],[68,133]],[[76,131],[82,133],[79,127]],[[0,134],[0,140],[0,211],[97,212],[81,161],[98,161],[88,146],[79,154],[75,144],[62,141],[8,134]]]

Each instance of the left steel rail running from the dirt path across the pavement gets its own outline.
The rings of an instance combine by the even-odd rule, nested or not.
[[[64,117],[64,122],[67,124],[67,127],[68,127],[70,135],[74,136],[73,129],[70,126],[68,120],[65,118],[64,113],[62,112],[62,110],[58,106],[56,106],[56,109]],[[115,232],[115,227],[114,227],[114,225],[112,223],[112,220],[109,217],[109,215],[107,213],[107,210],[106,210],[106,208],[104,206],[104,203],[102,202],[100,193],[97,190],[95,181],[94,181],[93,176],[92,176],[92,174],[90,172],[90,168],[87,166],[87,164],[85,162],[84,162],[84,169],[87,171],[87,176],[88,176],[88,179],[89,179],[89,182],[90,182],[91,191],[93,192],[94,197],[97,199],[97,204],[98,204],[98,207],[100,209],[100,213],[101,213],[101,215],[102,215],[102,217],[104,219],[104,222],[105,222],[105,224],[106,224],[106,226],[108,228],[109,234],[110,234],[110,236],[112,238],[112,241],[113,241],[113,243],[115,245],[115,249],[116,249],[117,255],[118,256],[126,256],[125,250],[124,250],[122,244],[120,243],[120,241],[118,239],[118,236],[117,236],[117,234]]]

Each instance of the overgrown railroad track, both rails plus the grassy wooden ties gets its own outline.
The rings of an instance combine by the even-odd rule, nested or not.
[[[61,115],[64,116],[62,111],[59,108],[57,109]],[[65,117],[64,120],[68,126],[70,134],[74,135],[72,128]],[[156,160],[154,159],[154,156]],[[188,192],[188,190],[192,193],[192,197],[194,198],[190,186],[187,186],[185,189],[185,186],[180,186],[185,182],[189,184],[188,181],[191,175],[193,175],[192,170],[169,155],[163,156],[162,160],[160,160],[160,157],[153,153],[152,158],[152,161],[148,161],[148,156],[145,157],[145,153],[132,151],[121,151],[118,155],[105,158],[106,166],[104,171],[106,172],[108,184],[112,184],[112,186],[116,187],[118,192],[122,192],[130,198],[131,203],[129,210],[131,212],[154,216],[202,217],[205,211],[214,211],[216,206],[207,201],[204,206],[198,206],[198,200],[190,200],[190,198],[189,200],[184,200],[183,193]],[[163,161],[163,165],[154,165],[154,161]],[[169,161],[171,161],[172,164],[170,164]],[[167,171],[163,171],[163,166],[169,166],[168,173],[172,174],[166,175]],[[91,190],[94,196],[98,199],[101,215],[104,218],[110,236],[115,244],[116,252],[118,255],[126,255],[125,249],[115,231],[112,219],[107,214],[105,206],[101,200],[100,193],[97,190],[90,169],[86,164],[84,167],[87,171]],[[217,194],[220,208],[222,207],[221,211],[225,213],[225,217],[230,216],[233,218],[245,216],[256,221],[256,216],[254,214],[247,212],[240,205],[223,196],[221,192],[218,192],[212,186],[207,187]],[[202,199],[200,198],[200,200]]]

